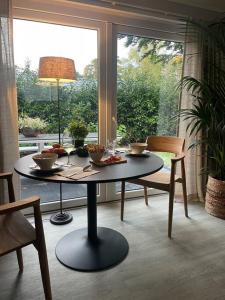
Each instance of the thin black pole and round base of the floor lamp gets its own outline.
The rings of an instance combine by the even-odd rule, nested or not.
[[[59,79],[57,82],[57,103],[58,103],[58,131],[59,131],[59,144],[61,145],[61,115],[60,115],[60,100],[59,100]],[[59,203],[60,211],[50,217],[50,222],[54,225],[68,224],[73,220],[73,216],[69,212],[63,211],[62,208],[62,183],[59,183]]]

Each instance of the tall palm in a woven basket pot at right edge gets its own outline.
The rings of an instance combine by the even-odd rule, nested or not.
[[[181,85],[192,93],[194,105],[179,115],[189,121],[187,129],[196,136],[190,147],[202,145],[207,156],[206,211],[225,219],[225,19],[210,26],[193,26],[205,45],[204,74],[201,80],[189,76],[182,79]]]

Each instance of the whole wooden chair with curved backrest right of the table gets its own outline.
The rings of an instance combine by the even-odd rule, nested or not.
[[[169,219],[168,219],[168,236],[171,238],[172,221],[173,221],[173,201],[175,183],[182,184],[185,216],[188,217],[187,208],[187,190],[186,190],[186,176],[183,153],[184,139],[170,136],[149,136],[147,138],[147,150],[158,152],[174,153],[175,157],[171,159],[171,172],[163,173],[157,172],[153,175],[145,176],[138,179],[129,180],[129,182],[144,186],[145,203],[148,205],[147,188],[155,188],[169,192]],[[176,165],[181,163],[181,176],[176,175]],[[124,200],[125,200],[125,181],[122,182],[121,188],[121,220],[124,215]]]

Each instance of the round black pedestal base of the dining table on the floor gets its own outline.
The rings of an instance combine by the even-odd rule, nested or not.
[[[64,236],[56,246],[56,257],[65,266],[78,271],[100,271],[117,265],[129,250],[127,240],[119,232],[97,228],[97,239],[88,239],[87,228]]]

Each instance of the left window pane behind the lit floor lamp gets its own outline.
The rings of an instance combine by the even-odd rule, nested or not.
[[[77,81],[60,86],[63,138],[69,141],[68,124],[81,119],[89,129],[86,142],[98,140],[97,30],[14,20],[14,47],[21,156],[58,141],[57,88],[38,81],[40,57],[61,56],[75,62]],[[25,137],[24,120],[38,123],[40,134]],[[39,194],[42,202],[59,199],[59,185],[21,178],[22,196]],[[86,186],[62,185],[63,198],[86,196]]]

